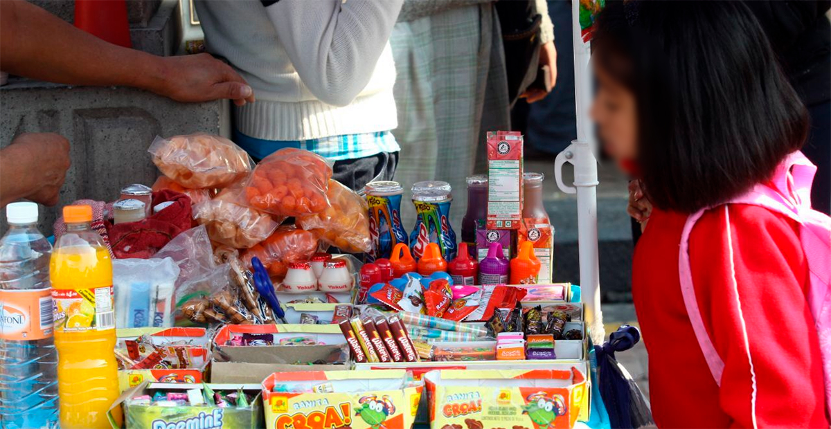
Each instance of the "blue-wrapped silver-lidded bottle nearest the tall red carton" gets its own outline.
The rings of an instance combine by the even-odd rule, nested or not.
[[[424,255],[428,244],[436,243],[445,261],[456,257],[456,233],[450,227],[450,184],[440,181],[419,182],[413,185],[413,204],[416,206],[416,227],[410,234],[411,251],[416,261]]]

